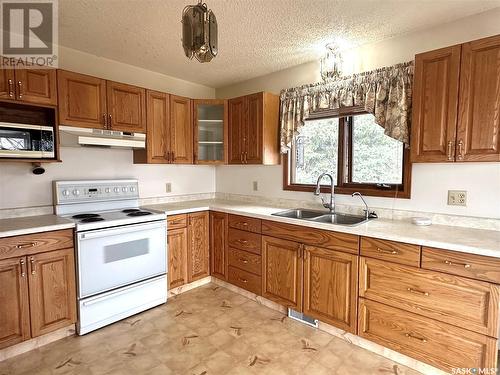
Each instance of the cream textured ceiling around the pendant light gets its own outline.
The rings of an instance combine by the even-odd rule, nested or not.
[[[206,0],[219,55],[189,61],[181,12],[197,0],[59,0],[67,47],[211,87],[315,60],[329,41],[355,46],[500,6],[500,0]]]

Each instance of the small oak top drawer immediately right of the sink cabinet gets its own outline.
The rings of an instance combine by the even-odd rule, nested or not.
[[[361,255],[408,266],[420,265],[420,246],[361,237]]]

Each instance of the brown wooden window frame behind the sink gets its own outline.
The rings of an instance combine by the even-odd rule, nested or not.
[[[339,145],[338,145],[338,169],[337,184],[335,192],[338,194],[352,194],[359,191],[363,195],[386,198],[411,197],[411,163],[410,150],[403,149],[403,183],[399,185],[389,185],[388,188],[377,184],[352,182],[352,117],[356,115],[368,114],[362,107],[350,107],[336,110],[321,110],[312,113],[308,120],[320,120],[324,118],[336,117],[339,119]],[[313,192],[316,189],[314,184],[297,184],[291,182],[293,174],[290,158],[291,151],[283,155],[283,190]],[[329,185],[321,185],[321,192],[330,192]]]

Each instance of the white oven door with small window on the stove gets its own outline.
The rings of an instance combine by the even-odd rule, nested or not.
[[[166,273],[165,221],[93,230],[77,237],[80,299]]]

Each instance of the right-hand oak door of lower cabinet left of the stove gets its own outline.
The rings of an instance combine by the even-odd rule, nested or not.
[[[65,249],[28,257],[32,337],[76,321],[73,253]]]

